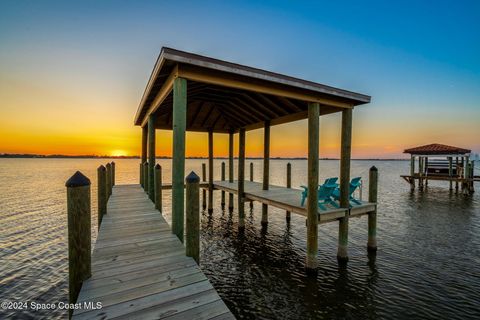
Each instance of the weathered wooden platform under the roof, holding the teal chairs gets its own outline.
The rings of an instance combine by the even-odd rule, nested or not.
[[[237,181],[214,181],[214,188],[237,194]],[[270,185],[269,190],[262,190],[262,183],[245,181],[245,199],[265,203],[280,209],[307,216],[307,209],[301,206],[301,190]],[[375,210],[375,203],[362,201],[361,205],[355,205],[350,209],[350,216],[361,216]],[[318,209],[318,223],[335,221],[348,214],[348,209],[335,208],[326,205],[327,210]]]

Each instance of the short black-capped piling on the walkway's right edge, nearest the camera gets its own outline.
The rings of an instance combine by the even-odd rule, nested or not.
[[[199,182],[200,178],[191,172],[186,182],[186,239],[185,253],[200,264],[200,206]]]

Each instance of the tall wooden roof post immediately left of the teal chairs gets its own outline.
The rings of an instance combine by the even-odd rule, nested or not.
[[[320,105],[308,104],[308,190],[307,198],[307,257],[308,273],[317,272],[318,255],[318,149],[320,129]]]

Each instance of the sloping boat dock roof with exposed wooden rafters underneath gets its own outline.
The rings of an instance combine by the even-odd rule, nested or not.
[[[145,126],[172,129],[173,81],[187,79],[187,131],[237,132],[305,119],[369,103],[370,96],[198,54],[162,48],[135,115]]]

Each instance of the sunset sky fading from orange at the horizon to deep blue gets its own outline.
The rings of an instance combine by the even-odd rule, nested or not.
[[[0,0],[0,153],[138,155],[133,118],[162,46],[372,96],[353,113],[354,158],[480,152],[479,1]],[[321,117],[320,157],[339,156],[340,122]],[[306,133],[273,126],[271,156],[305,156]],[[262,156],[262,130],[246,140]],[[171,143],[157,131],[158,155]],[[206,146],[187,133],[188,156]]]

